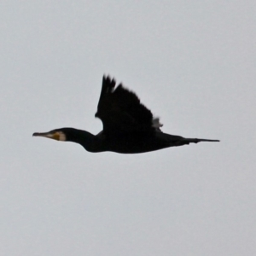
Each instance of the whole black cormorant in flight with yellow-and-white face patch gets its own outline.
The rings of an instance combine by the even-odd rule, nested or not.
[[[135,93],[122,84],[115,88],[115,80],[103,77],[102,92],[95,116],[102,119],[103,130],[93,135],[88,131],[61,128],[49,132],[35,132],[33,136],[49,137],[57,141],[81,144],[87,151],[113,151],[136,154],[189,143],[219,142],[184,138],[160,131],[162,126]]]

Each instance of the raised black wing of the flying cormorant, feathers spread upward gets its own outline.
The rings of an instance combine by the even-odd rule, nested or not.
[[[115,80],[105,76],[96,117],[102,119],[103,131],[107,133],[160,131],[162,126],[135,93],[122,84],[115,88]]]

